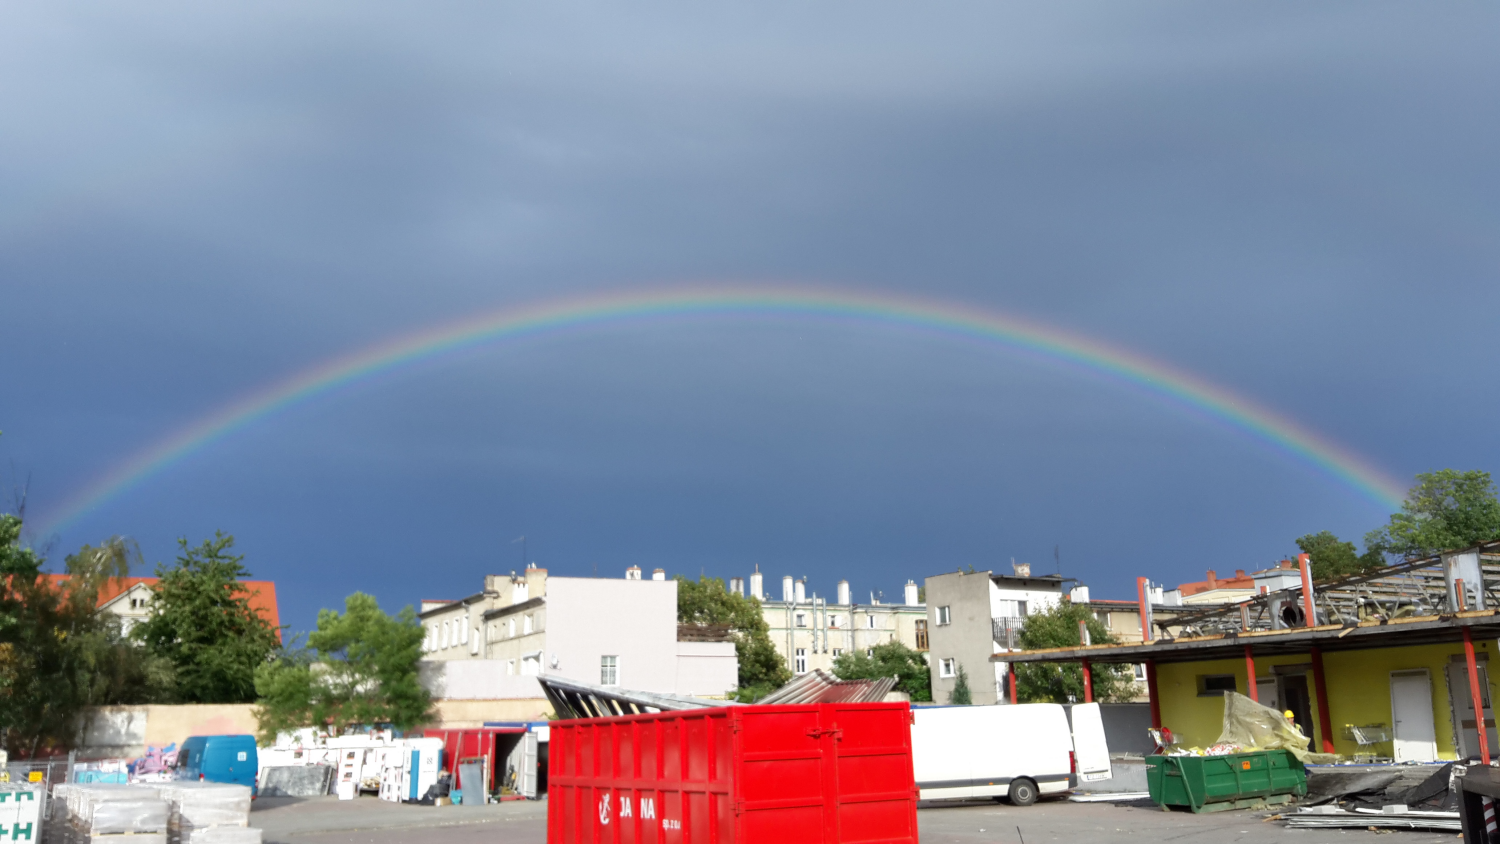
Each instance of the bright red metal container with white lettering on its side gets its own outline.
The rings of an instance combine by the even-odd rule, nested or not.
[[[916,844],[906,703],[552,723],[548,844]]]

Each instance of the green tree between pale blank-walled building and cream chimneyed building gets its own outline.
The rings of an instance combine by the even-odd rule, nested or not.
[[[738,700],[758,700],[792,679],[786,660],[771,643],[771,625],[765,622],[760,601],[735,595],[722,579],[699,577],[694,583],[678,574],[676,621],[720,628],[734,637],[735,657],[740,658]]]

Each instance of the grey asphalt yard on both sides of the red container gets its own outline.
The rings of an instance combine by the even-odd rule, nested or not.
[[[916,823],[924,844],[1044,844],[1080,841],[1150,843],[1294,843],[1294,844],[1454,844],[1454,832],[1368,832],[1362,829],[1287,829],[1266,810],[1215,814],[1161,811],[1150,804],[1070,804],[1041,801],[1030,807],[994,802],[921,804]],[[250,825],[266,844],[544,844],[546,802],[488,807],[412,807],[375,798],[262,799]],[[760,844],[760,843],[748,843]]]

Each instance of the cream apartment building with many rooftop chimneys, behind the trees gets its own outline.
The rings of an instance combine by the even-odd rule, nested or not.
[[[746,582],[729,579],[729,591],[746,594]],[[906,582],[900,604],[882,603],[870,595],[870,603],[856,604],[849,582],[840,580],[832,601],[808,591],[806,579],[782,577],[780,600],[766,595],[759,567],[750,574],[750,597],[760,601],[760,613],[771,628],[786,667],[794,675],[813,669],[831,672],[834,660],[843,654],[870,652],[876,645],[900,642],[914,651],[927,651],[927,609],[920,600],[916,583]]]

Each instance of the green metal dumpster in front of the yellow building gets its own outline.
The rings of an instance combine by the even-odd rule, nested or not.
[[[1305,796],[1308,774],[1302,762],[1284,750],[1148,756],[1146,787],[1156,805],[1224,811]]]

